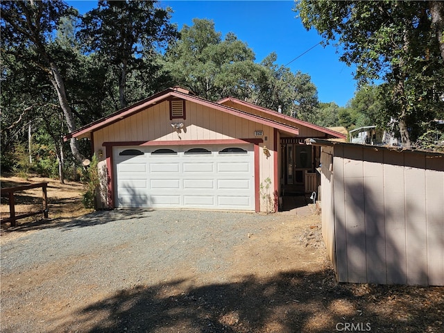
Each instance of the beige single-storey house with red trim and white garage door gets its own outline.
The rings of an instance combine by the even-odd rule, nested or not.
[[[277,210],[284,189],[317,188],[312,182],[321,149],[305,139],[345,138],[238,99],[206,101],[180,87],[89,123],[65,140],[73,137],[88,138],[99,157],[100,208],[253,212]]]

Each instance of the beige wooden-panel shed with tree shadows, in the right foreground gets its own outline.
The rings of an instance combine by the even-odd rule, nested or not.
[[[309,141],[337,280],[443,286],[444,154]]]

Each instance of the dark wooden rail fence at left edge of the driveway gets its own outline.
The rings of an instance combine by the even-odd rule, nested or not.
[[[26,214],[15,215],[15,197],[14,197],[15,192],[24,191],[26,189],[35,189],[38,187],[42,187],[42,200],[43,200],[42,210],[39,210],[37,212],[29,212]],[[8,219],[0,220],[0,223],[10,222],[11,226],[14,227],[15,221],[37,214],[43,214],[44,219],[48,219],[48,196],[46,195],[46,187],[48,187],[47,182],[38,182],[36,184],[31,184],[31,185],[4,187],[3,189],[1,189],[1,196],[7,196],[9,199],[8,205],[9,205],[10,216],[8,217]]]

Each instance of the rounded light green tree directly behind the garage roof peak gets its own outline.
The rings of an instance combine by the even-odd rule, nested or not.
[[[164,67],[174,83],[214,101],[251,93],[260,71],[254,60],[253,51],[233,33],[222,40],[214,22],[193,19],[193,26],[184,25],[180,39],[168,47]]]

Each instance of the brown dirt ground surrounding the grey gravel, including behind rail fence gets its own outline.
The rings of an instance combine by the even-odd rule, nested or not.
[[[82,185],[28,180],[41,181],[50,182],[51,220],[17,221],[15,230],[2,226],[2,246],[39,232],[35,225],[62,225],[68,217],[89,213],[81,208]],[[2,177],[1,182],[8,187],[23,180]],[[26,212],[26,203],[35,204],[35,198],[41,191],[26,191],[17,210]],[[5,208],[2,201],[2,217]],[[135,281],[117,292],[103,291],[94,281],[75,281],[59,296],[46,293],[47,283],[69,280],[72,267],[85,257],[2,275],[2,308],[5,298],[15,298],[19,306],[1,311],[1,331],[444,332],[444,287],[337,284],[319,214],[277,213],[275,223],[246,238],[232,249],[223,272],[187,275],[178,266],[171,268],[169,280]]]

